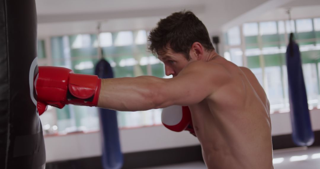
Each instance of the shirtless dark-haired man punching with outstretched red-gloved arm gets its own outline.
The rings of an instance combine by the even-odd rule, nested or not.
[[[98,79],[66,68],[39,67],[35,83],[39,114],[46,105],[120,111],[189,106],[208,168],[272,169],[269,102],[250,69],[219,56],[192,12],[160,20],[149,41],[150,50],[164,62],[166,75],[173,78]]]

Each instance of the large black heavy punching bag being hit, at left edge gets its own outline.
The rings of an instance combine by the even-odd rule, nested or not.
[[[45,168],[33,88],[37,74],[35,0],[0,0],[0,168]]]

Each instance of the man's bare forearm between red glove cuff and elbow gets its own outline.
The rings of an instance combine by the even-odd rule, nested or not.
[[[164,102],[165,80],[154,76],[102,79],[98,107],[119,111],[159,108]]]

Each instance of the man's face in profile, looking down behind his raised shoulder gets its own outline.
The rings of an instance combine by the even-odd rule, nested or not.
[[[158,55],[158,58],[164,63],[165,75],[177,76],[179,72],[188,64],[184,54],[176,53],[169,49]]]

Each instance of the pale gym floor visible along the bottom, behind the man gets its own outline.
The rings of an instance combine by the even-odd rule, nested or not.
[[[320,147],[274,150],[275,169],[320,169]],[[149,167],[144,169],[206,169],[203,162]]]

